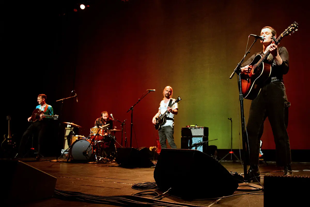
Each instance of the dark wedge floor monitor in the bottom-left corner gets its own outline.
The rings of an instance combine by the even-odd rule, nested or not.
[[[20,204],[52,197],[57,178],[24,162],[0,160],[1,202]]]

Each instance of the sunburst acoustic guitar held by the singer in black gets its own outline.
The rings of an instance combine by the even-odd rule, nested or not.
[[[279,44],[281,39],[293,34],[298,30],[298,24],[294,22],[290,25],[277,39],[274,38],[276,45]],[[241,88],[244,98],[253,100],[260,92],[261,85],[269,78],[271,74],[271,65],[264,63],[263,61],[268,57],[269,50],[263,55],[255,56],[254,60],[249,64],[252,66],[252,70],[248,74],[241,74]]]

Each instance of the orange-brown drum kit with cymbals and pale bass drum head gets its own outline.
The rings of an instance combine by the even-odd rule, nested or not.
[[[71,125],[73,128],[82,128],[77,124],[70,122],[63,122],[64,124]],[[88,137],[82,135],[76,135],[74,130],[71,131],[67,137],[69,148],[64,152],[69,152],[67,161],[81,160],[81,161],[97,161],[97,162],[109,162],[115,161],[117,156],[115,142],[116,131],[122,131],[117,129],[108,129],[108,125],[95,126],[90,129]],[[114,134],[112,134],[114,132]],[[118,142],[117,142],[118,143]],[[64,155],[64,152],[61,156]]]

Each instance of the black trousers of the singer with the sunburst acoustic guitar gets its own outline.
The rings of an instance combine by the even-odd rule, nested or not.
[[[290,141],[286,131],[288,106],[285,86],[280,81],[265,85],[252,101],[246,126],[249,146],[246,149],[247,165],[259,164],[260,138],[263,133],[263,123],[267,117],[276,144],[277,165],[285,166],[291,163]]]

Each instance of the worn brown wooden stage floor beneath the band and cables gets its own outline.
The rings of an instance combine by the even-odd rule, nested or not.
[[[56,160],[43,159],[39,162],[33,162],[33,158],[21,160],[37,169],[49,173],[57,178],[56,188],[65,191],[78,191],[87,194],[94,194],[100,196],[117,196],[117,195],[131,195],[139,192],[134,190],[131,186],[134,183],[141,182],[155,182],[153,172],[155,167],[152,168],[135,168],[126,169],[117,166],[117,163],[66,163],[55,162]],[[237,171],[243,172],[243,167],[240,162],[222,161],[221,164],[230,172]],[[294,175],[310,176],[310,163],[293,163]],[[212,169],[210,169],[212,170]],[[260,165],[261,171],[261,184],[264,183],[264,175],[266,174],[283,174],[280,168],[274,162],[262,163]],[[277,171],[277,172],[274,172]],[[264,173],[266,172],[266,173]],[[216,172],[215,172],[216,173]],[[258,184],[258,183],[256,183]],[[156,190],[159,193],[159,190]],[[234,194],[242,193],[236,191]],[[162,199],[164,201],[186,203],[201,206],[229,206],[229,207],[242,207],[242,206],[263,206],[263,193],[245,194],[223,198],[217,203],[215,200],[194,200],[185,201],[167,194]],[[213,204],[214,203],[214,204]],[[114,206],[104,204],[93,204],[79,201],[60,200],[58,198],[50,198],[39,200],[36,202],[19,205],[19,206],[71,206],[71,207],[84,207],[84,206]]]

